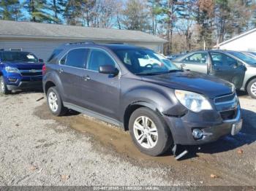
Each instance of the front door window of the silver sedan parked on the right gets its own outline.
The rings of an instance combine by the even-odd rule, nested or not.
[[[210,52],[210,54],[214,66],[234,66],[238,63],[236,59],[219,52]]]

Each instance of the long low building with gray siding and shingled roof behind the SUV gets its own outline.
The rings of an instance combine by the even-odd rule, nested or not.
[[[165,39],[142,31],[64,26],[0,20],[0,49],[33,52],[47,60],[53,49],[67,42],[127,43],[162,52]]]

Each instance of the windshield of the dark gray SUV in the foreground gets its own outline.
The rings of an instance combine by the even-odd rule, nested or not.
[[[143,48],[113,50],[129,71],[137,75],[165,74],[180,71],[165,56]]]

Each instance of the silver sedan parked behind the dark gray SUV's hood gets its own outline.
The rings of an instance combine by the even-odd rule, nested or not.
[[[190,52],[173,60],[180,69],[214,75],[232,82],[256,98],[256,59],[241,52],[206,50]]]

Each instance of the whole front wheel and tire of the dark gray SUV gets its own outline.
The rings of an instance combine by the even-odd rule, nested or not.
[[[148,108],[139,108],[129,119],[129,133],[135,146],[146,155],[162,155],[173,144],[170,128],[162,117]]]

